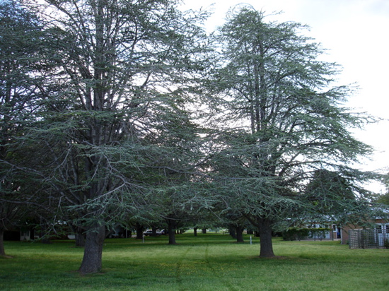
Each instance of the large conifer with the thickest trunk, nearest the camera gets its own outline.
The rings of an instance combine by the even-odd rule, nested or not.
[[[86,230],[79,271],[96,273],[106,227],[153,209],[148,181],[162,155],[149,137],[175,120],[204,71],[197,23],[205,14],[181,13],[166,0],[28,6],[41,11],[42,62],[52,69],[35,74],[39,117],[21,144],[45,153],[28,166],[45,177],[65,217]]]

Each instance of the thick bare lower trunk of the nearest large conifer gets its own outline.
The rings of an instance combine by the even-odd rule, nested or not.
[[[83,261],[79,268],[81,274],[98,273],[101,271],[104,239],[104,226],[97,227],[94,231],[86,233]]]

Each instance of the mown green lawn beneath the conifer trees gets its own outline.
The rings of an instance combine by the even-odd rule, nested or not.
[[[339,242],[274,239],[277,259],[258,258],[258,239],[227,234],[107,239],[103,273],[79,275],[83,249],[72,241],[6,242],[0,290],[389,290],[389,250]]]

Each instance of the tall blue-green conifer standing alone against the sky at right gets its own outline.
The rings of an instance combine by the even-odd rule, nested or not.
[[[366,119],[342,106],[351,90],[330,86],[337,67],[318,61],[323,49],[303,28],[266,23],[264,13],[243,7],[219,30],[224,114],[211,168],[228,207],[258,228],[261,257],[274,256],[277,223],[310,207],[303,200],[310,173],[327,169],[353,183],[370,177],[348,166],[370,153],[349,133]],[[367,205],[364,194],[354,193],[359,206]]]

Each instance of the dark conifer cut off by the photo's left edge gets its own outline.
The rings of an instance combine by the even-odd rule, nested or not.
[[[0,23],[0,255],[5,256],[4,231],[17,225],[33,193],[30,175],[12,164],[21,159],[15,152],[16,137],[23,135],[35,107],[31,75],[39,66],[42,28],[36,16],[15,1],[0,3]]]

